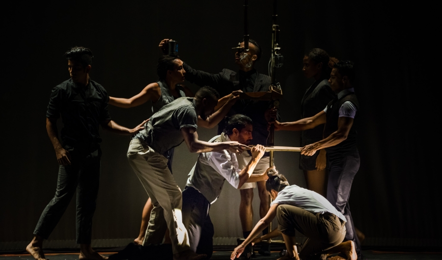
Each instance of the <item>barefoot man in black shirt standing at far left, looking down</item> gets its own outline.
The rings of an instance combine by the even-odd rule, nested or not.
[[[119,126],[108,112],[109,96],[97,82],[90,80],[92,52],[74,47],[65,53],[70,79],[57,85],[51,94],[46,113],[46,130],[54,145],[59,164],[54,198],[49,202],[34,230],[34,238],[26,247],[36,260],[43,260],[43,240],[54,230],[77,190],[77,243],[80,259],[106,259],[93,251],[92,217],[96,207],[100,180],[101,142],[99,126],[123,135],[144,129],[144,121],[134,129]],[[63,121],[61,143],[57,138],[57,120]]]

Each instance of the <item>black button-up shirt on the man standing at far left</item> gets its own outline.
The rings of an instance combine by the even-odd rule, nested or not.
[[[46,117],[63,122],[63,145],[99,143],[99,125],[111,120],[108,111],[109,96],[102,85],[89,80],[87,86],[66,80],[52,90]]]

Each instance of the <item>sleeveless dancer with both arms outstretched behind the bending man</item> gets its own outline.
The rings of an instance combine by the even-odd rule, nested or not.
[[[152,101],[152,112],[156,113],[164,105],[169,104],[177,98],[193,97],[192,91],[180,83],[184,82],[186,71],[183,69],[183,62],[177,56],[164,55],[158,60],[157,74],[159,80],[147,85],[140,93],[129,99],[110,97],[109,104],[122,108],[135,107]],[[222,107],[206,120],[198,116],[198,126],[204,128],[213,128],[218,125],[222,118],[227,114],[236,100],[239,98],[238,92],[228,95],[221,99]],[[164,156],[167,158],[167,167],[172,172],[172,159],[174,148],[166,151]],[[149,198],[144,205],[141,217],[141,227],[138,237],[134,240],[137,245],[142,245],[146,234],[147,225],[150,219],[150,212],[153,205]],[[170,243],[168,232],[166,231],[165,243]]]

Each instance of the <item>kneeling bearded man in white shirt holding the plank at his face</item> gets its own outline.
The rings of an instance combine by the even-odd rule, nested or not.
[[[237,141],[248,145],[252,139],[252,121],[248,116],[236,114],[226,120],[226,127],[221,135],[209,142]],[[183,224],[189,234],[189,243],[193,252],[204,252],[210,259],[213,252],[214,228],[209,216],[209,208],[221,194],[224,181],[239,189],[246,182],[267,180],[267,171],[253,174],[265,148],[256,145],[251,149],[249,163],[240,169],[235,153],[228,150],[201,153],[189,173],[183,191]]]

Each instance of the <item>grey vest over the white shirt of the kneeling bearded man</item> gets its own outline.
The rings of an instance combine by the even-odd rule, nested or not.
[[[210,142],[225,142],[224,133],[221,133],[221,135],[218,137],[215,136],[214,138],[215,139],[210,140]],[[210,204],[212,204],[220,196],[224,181],[224,177],[212,168],[212,166],[202,163],[198,159],[189,173],[189,179],[187,180],[186,185],[191,184],[191,186],[201,192]]]

